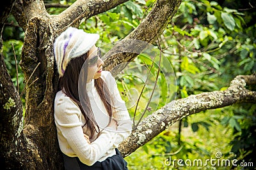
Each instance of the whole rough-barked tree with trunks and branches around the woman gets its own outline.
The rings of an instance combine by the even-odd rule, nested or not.
[[[82,19],[86,20],[122,3],[125,3],[125,0],[76,1],[59,15],[49,15],[42,0],[17,0],[11,1],[4,6],[4,10],[1,10],[3,16],[1,32],[13,5],[12,14],[25,32],[20,66],[25,82],[28,84],[26,87],[26,113],[24,127],[22,127],[23,115],[19,93],[5,67],[1,50],[0,147],[3,152],[0,153],[0,158],[6,168],[63,168],[53,118],[54,96],[58,84],[58,73],[54,66],[52,51],[54,39],[68,26],[78,27]],[[147,17],[125,39],[154,42],[166,29],[166,25],[175,15],[180,3],[181,1],[174,0],[156,1]],[[121,41],[120,44],[125,45],[125,41]],[[3,48],[2,43],[0,48]],[[118,64],[132,61],[135,58],[136,55],[128,53],[119,53],[108,57],[104,61],[105,69],[111,70]],[[132,131],[131,136],[120,145],[120,151],[124,156],[129,155],[169,125],[193,113],[221,108],[234,103],[255,103],[255,92],[245,88],[246,85],[253,85],[255,82],[255,74],[237,76],[227,90],[189,96],[166,104],[161,110],[157,110],[141,122],[139,125],[141,128]],[[172,104],[174,107],[170,110],[169,106]],[[172,113],[172,116],[166,117],[169,113]],[[162,117],[164,117],[163,123],[159,124]],[[152,132],[146,133],[145,129],[151,129]]]

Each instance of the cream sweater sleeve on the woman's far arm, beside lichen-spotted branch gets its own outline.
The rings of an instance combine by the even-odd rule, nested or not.
[[[113,117],[115,118],[118,125],[116,129],[116,139],[113,145],[115,148],[117,148],[118,145],[124,141],[124,139],[127,138],[129,134],[131,134],[132,121],[125,106],[125,102],[120,96],[115,78],[113,78],[110,72],[107,73],[106,83],[108,84],[111,96],[113,97],[113,108],[115,108]]]

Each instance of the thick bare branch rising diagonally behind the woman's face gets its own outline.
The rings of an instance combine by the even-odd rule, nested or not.
[[[125,66],[120,64],[134,60],[138,53],[142,52],[148,44],[153,43],[157,36],[163,33],[166,25],[169,24],[178,10],[180,3],[181,0],[156,1],[156,4],[154,4],[147,17],[141,21],[140,25],[106,54],[106,59],[104,60],[105,69],[111,71],[113,75],[120,73]],[[127,39],[140,40],[141,43],[140,41],[127,41]],[[136,49],[137,53],[124,53],[131,51],[132,48]]]

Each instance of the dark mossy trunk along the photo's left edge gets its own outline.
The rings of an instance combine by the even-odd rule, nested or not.
[[[29,162],[28,167],[35,167],[34,162],[30,161],[32,154],[28,153],[30,150],[26,148],[27,141],[22,131],[22,102],[8,73],[3,56],[2,32],[13,3],[13,0],[3,3],[0,10],[0,164],[2,169],[5,167],[16,169],[27,162]]]

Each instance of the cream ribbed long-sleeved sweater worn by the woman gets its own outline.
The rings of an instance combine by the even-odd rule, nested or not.
[[[132,129],[132,121],[116,87],[115,78],[108,71],[102,71],[101,78],[108,85],[113,97],[115,107],[113,117],[118,127],[116,131],[111,127],[106,127],[109,121],[108,113],[94,87],[94,80],[87,83],[86,89],[93,115],[100,131],[103,129],[99,138],[91,144],[83,136],[84,133],[88,134],[88,131],[86,126],[82,128],[85,120],[77,104],[61,90],[56,94],[54,102],[54,118],[61,152],[69,157],[78,157],[81,162],[88,166],[115,155],[115,148],[129,136]]]

